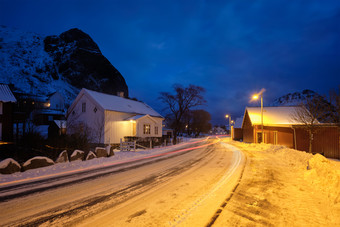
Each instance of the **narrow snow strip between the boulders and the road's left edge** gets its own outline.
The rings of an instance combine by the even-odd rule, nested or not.
[[[14,174],[0,174],[0,187],[8,186],[10,184],[24,183],[34,180],[41,180],[45,178],[57,177],[67,175],[70,173],[86,171],[89,169],[101,168],[104,166],[114,166],[121,163],[135,161],[141,158],[154,156],[173,150],[180,149],[190,143],[199,143],[205,139],[190,139],[184,143],[173,146],[154,148],[149,150],[137,150],[136,152],[120,152],[115,150],[115,155],[109,158],[95,158],[88,161],[74,161],[66,163],[58,163],[52,166],[32,169],[25,172],[18,172]]]

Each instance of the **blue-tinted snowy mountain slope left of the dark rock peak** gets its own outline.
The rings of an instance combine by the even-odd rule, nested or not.
[[[59,91],[70,103],[79,89],[56,72],[44,50],[44,37],[0,26],[0,83],[21,93],[48,95]]]

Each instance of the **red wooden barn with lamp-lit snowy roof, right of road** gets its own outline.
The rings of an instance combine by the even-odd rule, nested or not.
[[[303,122],[292,119],[298,107],[263,108],[263,142],[280,144],[308,152],[309,138]],[[261,108],[247,107],[242,122],[243,141],[262,142]],[[340,128],[336,125],[317,124],[313,134],[313,153],[321,153],[328,158],[340,159]]]

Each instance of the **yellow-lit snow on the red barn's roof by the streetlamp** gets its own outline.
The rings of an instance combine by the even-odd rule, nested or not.
[[[278,107],[263,107],[263,125],[297,125],[303,124],[293,120],[293,115],[296,112],[296,106],[278,106]],[[252,125],[261,124],[261,108],[247,107],[246,111],[249,114]]]

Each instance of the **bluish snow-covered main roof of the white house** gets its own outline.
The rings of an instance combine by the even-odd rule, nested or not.
[[[125,113],[135,113],[138,115],[150,115],[153,117],[162,117],[150,106],[143,102],[134,101],[118,97],[115,95],[104,94],[83,88],[84,92],[89,94],[105,110],[112,110]],[[163,118],[163,117],[162,117]]]

